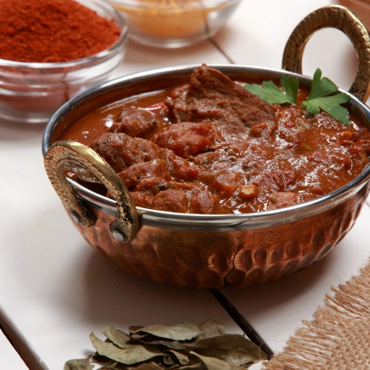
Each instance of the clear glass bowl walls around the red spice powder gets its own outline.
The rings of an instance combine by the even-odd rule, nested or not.
[[[127,25],[102,0],[80,0],[100,16],[113,19],[121,29],[110,48],[92,56],[60,63],[25,63],[0,59],[0,119],[46,123],[62,104],[92,84],[106,80],[122,61]]]

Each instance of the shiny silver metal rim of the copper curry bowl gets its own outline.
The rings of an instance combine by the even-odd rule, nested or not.
[[[295,74],[283,70],[256,68],[252,66],[243,65],[227,65],[227,64],[213,64],[209,65],[212,68],[221,70],[223,73],[245,73],[255,75],[266,75],[268,77],[281,77],[282,75],[291,75],[299,78],[301,83],[310,84],[312,78],[300,74]],[[45,156],[48,148],[51,145],[52,133],[55,127],[64,116],[82,104],[86,99],[101,96],[108,93],[117,87],[123,87],[125,83],[132,83],[133,81],[143,81],[149,77],[171,75],[171,74],[190,74],[191,71],[197,68],[198,65],[185,65],[166,67],[161,69],[149,70],[137,74],[130,74],[124,77],[116,78],[111,81],[96,85],[89,90],[78,94],[70,101],[65,103],[58,111],[51,117],[47,124],[42,138],[42,152]],[[350,96],[350,103],[356,107],[363,117],[370,122],[370,108],[363,102],[357,99],[352,94],[345,90],[339,89]],[[97,107],[96,107],[97,108]],[[312,217],[326,210],[333,209],[335,206],[345,202],[354,194],[359,192],[363,186],[370,180],[370,166],[368,165],[362,173],[355,179],[351,180],[346,185],[340,188],[319,196],[313,200],[296,204],[294,206],[281,208],[271,211],[262,211],[256,213],[246,214],[230,214],[230,215],[200,215],[200,214],[183,214],[167,211],[157,211],[148,208],[137,207],[140,217],[140,222],[148,226],[163,227],[169,229],[186,229],[186,230],[217,230],[217,231],[231,231],[231,230],[248,230],[283,223],[295,222],[307,217]],[[97,194],[82,185],[76,183],[68,178],[69,183],[74,189],[74,192],[80,196],[84,202],[98,210],[101,210],[111,216],[116,215],[115,201],[103,195]]]

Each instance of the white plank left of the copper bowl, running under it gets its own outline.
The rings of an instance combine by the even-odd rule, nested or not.
[[[187,50],[130,43],[115,76],[154,67],[226,60],[208,41]],[[0,124],[0,317],[45,369],[93,351],[89,333],[107,325],[200,323],[240,329],[208,291],[155,284],[100,257],[68,220],[42,164],[37,125]],[[1,368],[3,369],[3,368]]]

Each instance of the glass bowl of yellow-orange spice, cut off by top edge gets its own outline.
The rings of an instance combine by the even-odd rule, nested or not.
[[[241,0],[109,0],[127,19],[130,37],[159,47],[181,47],[211,37]]]

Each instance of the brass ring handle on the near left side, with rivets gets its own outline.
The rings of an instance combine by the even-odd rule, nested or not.
[[[116,220],[110,224],[111,233],[122,243],[131,241],[139,230],[138,213],[126,185],[111,166],[93,149],[71,140],[54,143],[45,155],[46,174],[64,207],[75,222],[86,227],[95,224],[95,219],[65,178],[63,167],[66,162],[87,168],[106,186],[117,203]]]

